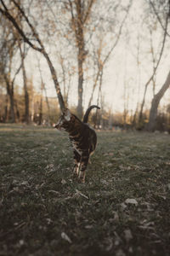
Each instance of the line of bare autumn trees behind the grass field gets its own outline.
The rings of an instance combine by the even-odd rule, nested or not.
[[[136,0],[0,0],[1,121],[52,124],[59,109],[68,105],[75,108],[69,100],[77,94],[74,111],[80,118],[85,105],[101,106],[99,115],[93,116],[99,127],[169,131],[169,102],[163,108],[159,103],[169,88],[170,72],[167,67],[161,81],[157,81],[157,73],[169,49],[170,3],[141,0],[143,13],[138,22],[132,11],[134,6],[139,8],[136,4]],[[161,35],[158,39],[157,34]],[[118,74],[123,81],[123,110],[114,113],[111,104],[105,102],[105,73],[109,67],[114,70],[111,58],[122,42],[128,46],[136,68],[133,80],[128,80],[130,63],[125,55],[124,73]],[[28,58],[32,54],[35,66],[38,60],[38,88],[28,74]],[[143,67],[144,59],[148,59],[148,67]],[[53,80],[58,102],[48,96],[42,60]],[[152,99],[147,106],[150,91]],[[135,109],[130,107],[132,102]]]

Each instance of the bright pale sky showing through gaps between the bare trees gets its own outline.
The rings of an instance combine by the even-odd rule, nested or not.
[[[124,98],[126,98],[126,104],[129,111],[135,111],[137,102],[141,102],[144,94],[144,84],[150,79],[152,74],[152,61],[150,58],[150,33],[147,26],[144,25],[142,19],[144,18],[144,1],[133,1],[133,6],[130,10],[129,19],[127,19],[126,27],[128,32],[126,36],[122,36],[116,49],[111,54],[109,61],[105,65],[102,95],[105,100],[105,108],[111,109],[112,112],[123,111]],[[137,47],[138,37],[140,38],[140,54],[139,54],[139,67],[137,65]],[[109,38],[108,38],[109,40]],[[158,25],[156,31],[153,31],[153,44],[154,50],[158,53],[161,49],[162,31]],[[105,41],[105,50],[107,51],[107,38]],[[109,47],[109,46],[108,46]],[[166,44],[165,53],[162,56],[162,61],[156,73],[156,92],[161,88],[162,84],[167,78],[167,73],[170,69],[170,45]],[[42,79],[46,84],[48,96],[56,96],[54,89],[54,83],[51,78],[46,61],[39,53],[34,50],[29,50],[29,55],[26,57],[26,72],[28,77],[33,79],[33,84],[40,89],[41,79],[38,71],[38,61],[41,63]],[[56,71],[58,73],[58,67],[56,63],[56,57],[52,54],[52,59]],[[75,63],[76,65],[76,63]],[[17,78],[17,84],[21,82],[21,76]],[[83,107],[87,108],[88,99],[92,92],[92,81],[85,81],[84,84],[84,96]],[[94,94],[94,102],[97,103],[97,91]],[[150,108],[150,102],[152,98],[152,86],[150,84],[146,97],[146,107]],[[170,92],[167,91],[161,106],[170,103]],[[77,77],[72,79],[71,91],[69,95],[69,106],[77,105]]]

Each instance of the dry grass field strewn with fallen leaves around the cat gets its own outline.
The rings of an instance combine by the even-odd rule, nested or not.
[[[0,125],[0,255],[170,255],[170,136],[98,132],[85,184],[68,137]]]

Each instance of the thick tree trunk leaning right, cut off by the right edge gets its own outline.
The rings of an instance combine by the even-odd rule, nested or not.
[[[170,85],[170,72],[167,75],[165,84],[163,84],[163,86],[161,87],[161,90],[158,91],[158,93],[153,97],[153,100],[151,102],[150,119],[149,119],[148,125],[146,126],[147,131],[156,130],[157,108],[159,106],[162,96],[164,96],[166,90],[169,88],[169,85]]]

